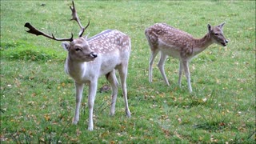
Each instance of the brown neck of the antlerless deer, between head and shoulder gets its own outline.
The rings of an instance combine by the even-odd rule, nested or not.
[[[203,50],[206,50],[206,48],[208,46],[210,46],[211,44],[213,44],[211,38],[210,38],[210,34],[207,33],[203,38],[200,39],[195,39],[194,40],[194,53],[195,54],[199,54],[201,53]]]

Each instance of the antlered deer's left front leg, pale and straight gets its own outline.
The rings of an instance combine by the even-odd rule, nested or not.
[[[80,105],[81,105],[83,86],[84,86],[84,84],[75,82],[76,106],[75,106],[75,111],[74,111],[73,124],[77,124],[79,121],[79,109],[80,109]]]

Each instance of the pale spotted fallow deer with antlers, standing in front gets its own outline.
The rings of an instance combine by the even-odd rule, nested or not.
[[[36,35],[42,35],[56,41],[70,41],[62,42],[62,46],[68,51],[65,71],[71,78],[74,79],[76,89],[76,108],[74,111],[73,123],[77,124],[79,120],[79,108],[82,100],[82,91],[84,84],[89,85],[88,107],[89,107],[89,124],[88,130],[94,129],[93,113],[94,113],[94,99],[96,96],[98,78],[105,75],[112,87],[112,102],[110,106],[110,114],[114,115],[115,102],[118,94],[118,79],[116,78],[115,69],[118,70],[122,94],[126,106],[126,115],[130,117],[130,110],[127,101],[126,91],[126,76],[128,61],[130,58],[131,43],[130,38],[118,30],[105,30],[100,34],[96,34],[92,38],[82,37],[84,30],[89,26],[83,27],[76,10],[70,6],[72,11],[72,19],[78,22],[81,30],[79,38],[55,38],[54,35],[48,35],[37,30],[30,23],[25,26],[29,28],[27,32]]]

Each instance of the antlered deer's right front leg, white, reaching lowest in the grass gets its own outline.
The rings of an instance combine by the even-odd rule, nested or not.
[[[90,82],[89,96],[88,96],[88,107],[89,107],[89,123],[88,130],[94,130],[94,100],[97,92],[97,80]]]

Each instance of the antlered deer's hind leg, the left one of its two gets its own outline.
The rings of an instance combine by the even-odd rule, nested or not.
[[[110,107],[110,115],[114,115],[115,103],[118,96],[118,79],[115,75],[115,70],[112,70],[110,73],[106,74],[106,79],[110,82],[112,88],[112,102]]]

